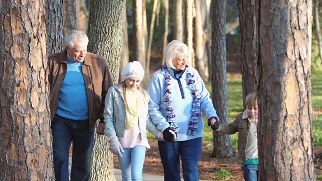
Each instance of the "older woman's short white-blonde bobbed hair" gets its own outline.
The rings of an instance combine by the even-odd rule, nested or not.
[[[184,57],[186,59],[188,57],[188,55],[189,55],[188,46],[186,44],[184,44],[180,40],[171,41],[166,46],[165,52],[164,52],[166,64],[167,64],[168,67],[170,67],[172,69],[176,69],[172,64],[172,60],[174,58],[182,58],[182,57]]]

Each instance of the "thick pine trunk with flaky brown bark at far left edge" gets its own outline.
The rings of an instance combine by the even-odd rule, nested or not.
[[[0,180],[54,180],[45,3],[0,7]]]

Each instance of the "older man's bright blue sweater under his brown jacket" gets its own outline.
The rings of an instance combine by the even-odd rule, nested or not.
[[[58,94],[56,114],[72,119],[89,119],[86,85],[83,77],[84,62],[73,62],[67,58],[67,72]]]

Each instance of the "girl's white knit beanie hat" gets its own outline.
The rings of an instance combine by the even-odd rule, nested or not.
[[[136,77],[142,80],[144,77],[144,69],[140,62],[133,61],[125,65],[121,76],[123,80],[131,77]]]

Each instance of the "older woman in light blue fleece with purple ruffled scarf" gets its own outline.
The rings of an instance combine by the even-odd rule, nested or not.
[[[164,131],[164,140],[156,139],[165,180],[180,181],[181,156],[184,180],[196,181],[204,127],[201,112],[209,121],[219,119],[198,71],[186,64],[187,45],[173,40],[164,56],[166,64],[153,74],[148,94],[150,117]]]

